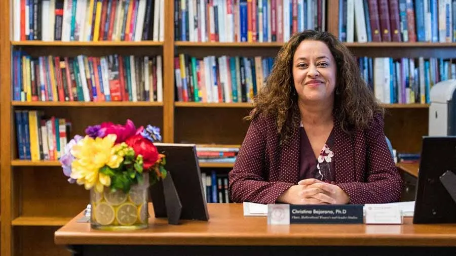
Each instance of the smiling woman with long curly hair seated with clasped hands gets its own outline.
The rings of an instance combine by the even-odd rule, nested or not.
[[[294,34],[259,92],[229,174],[234,202],[398,201],[402,180],[383,108],[355,58],[332,34]]]

